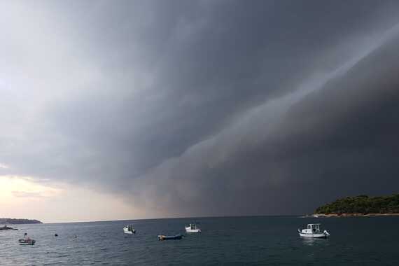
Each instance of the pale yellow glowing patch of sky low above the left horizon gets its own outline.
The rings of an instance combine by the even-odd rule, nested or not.
[[[0,218],[29,218],[43,223],[128,220],[143,213],[123,200],[27,176],[0,176]]]

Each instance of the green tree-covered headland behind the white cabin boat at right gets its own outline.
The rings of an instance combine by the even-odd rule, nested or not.
[[[399,194],[344,197],[318,207],[314,216],[399,216]]]

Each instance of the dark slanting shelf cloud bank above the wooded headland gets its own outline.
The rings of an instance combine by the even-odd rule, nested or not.
[[[258,116],[244,133],[232,129],[234,140],[199,144],[143,183],[181,215],[300,214],[339,196],[395,193],[398,43],[397,35],[278,122]]]

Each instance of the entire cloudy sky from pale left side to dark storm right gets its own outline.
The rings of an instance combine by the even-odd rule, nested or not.
[[[0,217],[398,193],[398,23],[399,1],[1,1]]]

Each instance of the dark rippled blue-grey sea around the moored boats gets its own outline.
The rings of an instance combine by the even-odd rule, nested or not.
[[[183,233],[193,219],[16,225],[0,231],[0,265],[399,265],[399,217],[194,220],[202,233],[170,241],[157,235]],[[130,223],[136,235],[123,234]],[[307,223],[330,239],[300,239]],[[18,245],[24,232],[36,245]]]

